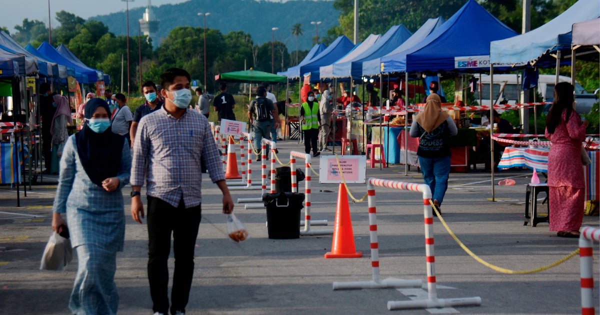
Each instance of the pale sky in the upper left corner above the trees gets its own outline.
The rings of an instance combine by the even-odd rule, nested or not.
[[[189,0],[151,0],[152,6],[178,4]],[[218,0],[217,0],[218,1]],[[40,20],[48,23],[48,2],[52,28],[58,26],[56,12],[65,10],[87,20],[89,17],[125,11],[127,3],[121,0],[0,0],[2,19],[0,26],[5,26],[13,34],[15,25],[22,25],[24,19]],[[145,7],[148,0],[129,2],[129,8]]]

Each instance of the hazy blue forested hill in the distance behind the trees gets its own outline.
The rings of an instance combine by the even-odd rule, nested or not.
[[[146,1],[130,3],[130,35],[137,35],[137,20],[142,18],[145,11],[145,7],[131,7],[142,2]],[[310,22],[322,22],[319,25],[319,37],[326,35],[332,26],[338,25],[340,14],[334,9],[333,3],[327,0],[294,0],[283,3],[254,0],[190,0],[181,4],[152,7],[154,15],[160,20],[154,46],[158,46],[177,26],[202,27],[203,16],[198,16],[197,13],[209,12],[211,14],[206,17],[206,28],[219,29],[223,34],[229,31],[244,31],[252,36],[254,44],[271,41],[271,28],[279,28],[274,32],[275,40],[286,43],[292,50],[296,49],[296,40],[291,29],[296,23],[301,23],[303,35],[298,38],[298,48],[310,49],[316,32],[315,26]],[[127,34],[125,11],[90,19],[103,22],[115,35]]]

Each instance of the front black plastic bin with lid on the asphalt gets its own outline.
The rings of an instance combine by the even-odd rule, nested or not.
[[[302,202],[303,193],[263,194],[270,239],[300,238]]]

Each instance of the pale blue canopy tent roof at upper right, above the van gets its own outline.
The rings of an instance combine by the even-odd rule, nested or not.
[[[490,43],[493,64],[526,64],[546,67],[556,64],[556,56],[571,54],[572,25],[600,16],[600,1],[579,0],[548,23],[504,40]],[[561,52],[556,55],[555,52]],[[554,55],[554,56],[553,56]],[[568,61],[570,64],[570,60]]]

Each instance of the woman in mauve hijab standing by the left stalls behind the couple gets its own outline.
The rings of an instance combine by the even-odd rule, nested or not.
[[[52,106],[56,108],[52,125],[50,126],[50,134],[52,134],[52,165],[50,170],[53,174],[58,174],[58,163],[61,160],[62,149],[69,137],[67,125],[73,124],[73,116],[71,116],[71,108],[67,97],[56,94],[52,97]]]

